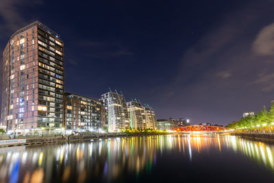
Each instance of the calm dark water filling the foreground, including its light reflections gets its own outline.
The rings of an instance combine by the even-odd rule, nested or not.
[[[0,182],[274,182],[274,145],[228,135],[0,148]]]

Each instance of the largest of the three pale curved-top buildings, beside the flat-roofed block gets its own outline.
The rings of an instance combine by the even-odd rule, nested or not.
[[[119,132],[129,127],[129,114],[127,112],[127,103],[123,94],[112,91],[101,95],[101,99],[108,107],[108,131]]]

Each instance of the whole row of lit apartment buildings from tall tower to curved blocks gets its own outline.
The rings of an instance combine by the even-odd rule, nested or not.
[[[64,91],[64,42],[36,21],[16,31],[3,51],[1,128],[118,131],[155,128],[155,114],[122,94],[91,99]]]

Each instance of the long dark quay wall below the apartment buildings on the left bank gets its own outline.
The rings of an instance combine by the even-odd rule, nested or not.
[[[117,138],[117,137],[130,137],[130,136],[151,136],[151,135],[169,135],[174,133],[134,133],[134,134],[98,134],[92,136],[57,136],[57,137],[44,137],[44,138],[15,138],[2,140],[7,143],[0,145],[1,147],[12,147],[12,146],[24,146],[24,145],[42,145],[52,143],[70,143],[75,141],[90,141],[99,140],[106,138]],[[20,142],[21,143],[16,143]],[[12,143],[9,143],[12,142]],[[14,142],[14,143],[13,143]]]

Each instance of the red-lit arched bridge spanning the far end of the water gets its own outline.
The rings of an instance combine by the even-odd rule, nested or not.
[[[222,132],[225,127],[210,125],[189,125],[184,127],[175,127],[173,130],[177,132]]]

